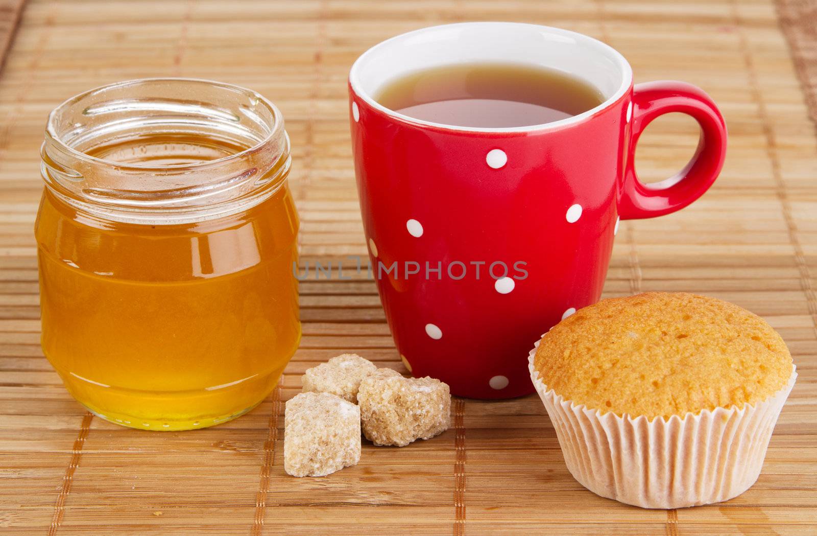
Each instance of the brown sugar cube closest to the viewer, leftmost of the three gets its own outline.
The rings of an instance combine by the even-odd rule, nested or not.
[[[326,476],[360,461],[360,409],[328,393],[301,393],[287,401],[283,470]]]

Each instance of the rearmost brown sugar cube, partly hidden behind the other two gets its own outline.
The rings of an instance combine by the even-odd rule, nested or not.
[[[317,367],[306,369],[301,376],[301,385],[304,392],[332,393],[357,404],[360,380],[375,370],[377,367],[371,361],[357,354],[338,355]]]

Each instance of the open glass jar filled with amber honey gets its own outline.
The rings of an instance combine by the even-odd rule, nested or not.
[[[208,427],[301,337],[283,118],[256,92],[134,80],[66,100],[42,144],[42,351],[101,418]]]

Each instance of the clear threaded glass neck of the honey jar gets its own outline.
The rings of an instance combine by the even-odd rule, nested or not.
[[[230,147],[212,159],[151,163],[177,148],[151,141],[165,134]],[[93,153],[118,140],[135,159]],[[284,184],[292,161],[283,115],[270,100],[201,78],[138,78],[72,96],[49,114],[40,152],[46,187],[65,203],[105,219],[156,223],[212,219],[261,203]]]

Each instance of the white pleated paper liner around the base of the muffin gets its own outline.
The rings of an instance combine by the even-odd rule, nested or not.
[[[771,432],[797,372],[775,395],[742,409],[704,409],[681,418],[619,417],[574,404],[549,389],[534,369],[536,386],[565,464],[579,484],[602,497],[642,508],[720,503],[749,489],[760,475]]]

